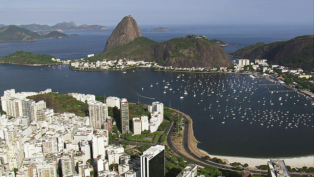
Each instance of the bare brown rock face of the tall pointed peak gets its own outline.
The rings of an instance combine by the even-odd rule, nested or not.
[[[141,37],[141,29],[131,15],[126,16],[112,31],[106,42],[104,52],[125,45],[137,37]]]

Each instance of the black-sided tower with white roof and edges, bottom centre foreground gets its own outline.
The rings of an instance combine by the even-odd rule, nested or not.
[[[150,147],[141,155],[141,177],[165,176],[165,147]]]

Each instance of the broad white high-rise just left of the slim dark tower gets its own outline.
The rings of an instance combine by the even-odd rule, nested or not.
[[[103,128],[103,124],[108,118],[108,106],[100,101],[88,102],[90,125],[95,129]]]

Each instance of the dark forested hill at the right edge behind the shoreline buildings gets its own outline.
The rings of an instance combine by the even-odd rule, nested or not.
[[[267,59],[271,64],[313,69],[314,35],[297,36],[287,41],[257,43],[230,55],[246,59]]]

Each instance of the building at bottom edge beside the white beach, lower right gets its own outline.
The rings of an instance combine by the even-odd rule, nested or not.
[[[268,161],[267,169],[267,177],[290,177],[284,160]]]

